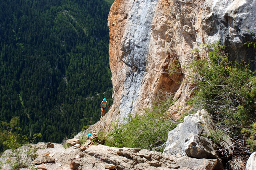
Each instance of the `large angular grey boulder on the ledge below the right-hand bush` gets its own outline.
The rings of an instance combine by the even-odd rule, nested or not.
[[[184,118],[174,130],[168,133],[168,140],[164,154],[177,156],[190,156],[193,158],[214,158],[218,160],[217,169],[223,169],[222,161],[216,152],[217,146],[202,135],[209,134],[216,129],[206,110],[197,111],[196,114]],[[230,138],[224,135],[218,144],[223,148],[232,145]],[[230,148],[230,147],[229,147]],[[231,148],[227,151],[232,153]]]

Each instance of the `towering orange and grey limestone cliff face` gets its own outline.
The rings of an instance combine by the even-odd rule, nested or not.
[[[175,94],[169,111],[178,117],[191,93],[184,67],[201,44],[220,41],[234,60],[255,59],[255,49],[243,45],[255,41],[247,31],[256,32],[255,0],[115,0],[108,26],[114,103],[92,127],[97,131],[129,113],[142,114],[166,92]],[[175,63],[181,74],[170,76],[166,70]]]

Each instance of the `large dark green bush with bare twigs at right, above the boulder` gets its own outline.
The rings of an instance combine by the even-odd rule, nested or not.
[[[224,46],[206,46],[208,56],[192,62],[197,90],[190,100],[195,109],[205,108],[217,125],[232,136],[247,135],[248,146],[255,148],[256,77],[249,64],[231,62]],[[244,128],[246,127],[246,128]],[[250,136],[248,136],[250,134]]]

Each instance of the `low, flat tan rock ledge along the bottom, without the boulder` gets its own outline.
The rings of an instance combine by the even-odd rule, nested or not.
[[[23,170],[212,170],[217,164],[216,159],[178,158],[145,149],[91,145],[82,151],[74,147],[65,149],[61,144],[54,144],[54,148],[44,148],[45,145],[47,143],[31,145],[38,148],[38,156],[34,161],[30,159],[28,168]],[[4,159],[1,161],[6,161]],[[2,168],[9,170],[10,164]]]

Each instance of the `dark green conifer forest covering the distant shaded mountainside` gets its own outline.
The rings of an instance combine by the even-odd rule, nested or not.
[[[99,120],[102,99],[112,104],[112,2],[1,0],[1,122],[18,116],[21,134],[62,142]]]

